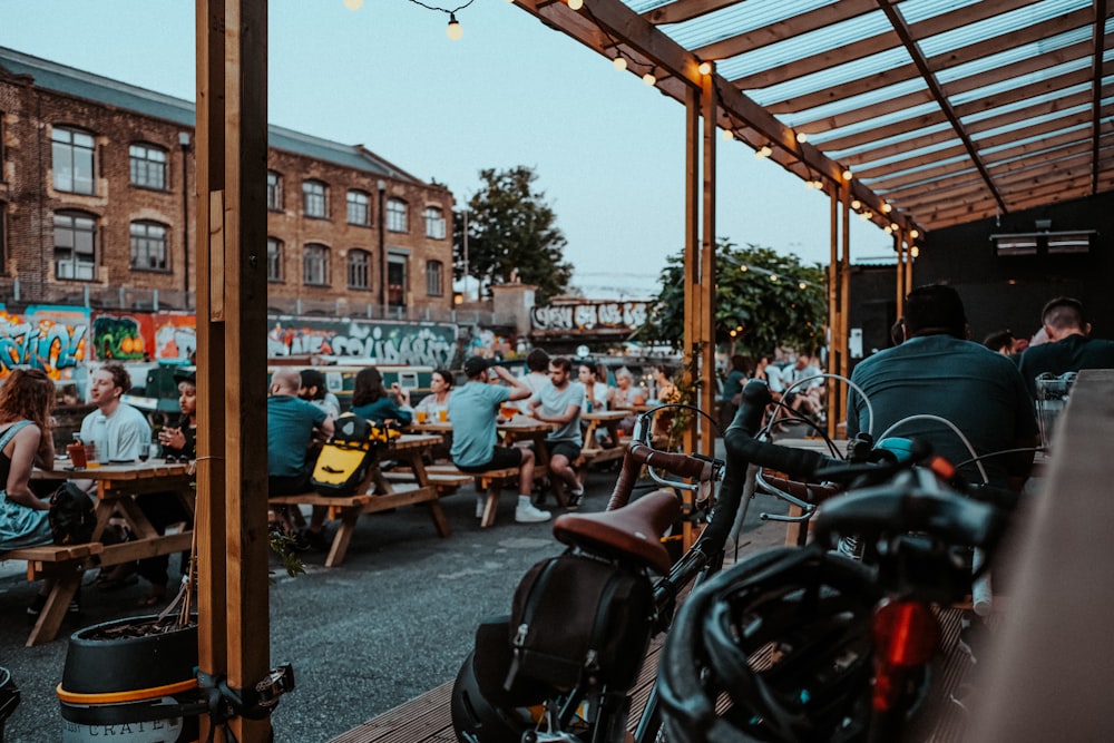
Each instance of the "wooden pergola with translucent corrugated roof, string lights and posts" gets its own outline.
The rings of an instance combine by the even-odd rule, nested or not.
[[[896,295],[926,231],[1110,190],[1105,0],[515,0],[685,106],[685,339],[713,407],[717,130],[831,199],[831,371],[849,219],[888,229]],[[578,9],[574,10],[574,6]],[[196,0],[201,667],[270,668],[265,0]],[[829,400],[842,399],[830,390]],[[834,421],[838,414],[830,414]],[[703,433],[703,434],[702,434]],[[692,450],[712,451],[694,428]],[[235,720],[240,741],[270,723]],[[207,731],[203,731],[203,735]],[[217,740],[222,732],[217,731]]]

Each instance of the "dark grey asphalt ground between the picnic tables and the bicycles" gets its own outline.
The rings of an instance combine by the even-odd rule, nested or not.
[[[612,472],[592,472],[585,510],[600,510]],[[452,535],[439,539],[421,507],[364,516],[345,563],[322,567],[305,556],[307,574],[276,576],[271,590],[271,647],[275,664],[294,665],[297,688],[273,715],[280,743],[326,741],[456,675],[480,617],[506,613],[519,577],[561,547],[549,524],[514,522],[514,499],[504,498],[496,525],[480,529],[470,487],[446,498]],[[784,529],[754,531],[762,510],[783,511],[769,497],[750,508],[740,541],[745,549],[780,542]],[[66,639],[27,648],[25,606],[35,587],[21,564],[0,564],[0,665],[23,692],[7,725],[8,743],[60,739],[55,687],[61,678]],[[90,575],[91,578],[91,575]],[[143,594],[82,592],[85,624],[128,614]]]

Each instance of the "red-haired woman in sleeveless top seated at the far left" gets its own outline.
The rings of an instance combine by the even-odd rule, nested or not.
[[[14,369],[0,387],[0,553],[22,547],[52,545],[50,501],[31,491],[31,469],[55,468],[55,444],[50,410],[55,383],[41,369]],[[31,620],[38,618],[53,587],[46,580],[27,607]],[[77,595],[68,614],[80,614]]]

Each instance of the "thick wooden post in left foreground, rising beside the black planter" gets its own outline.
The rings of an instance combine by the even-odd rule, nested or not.
[[[198,661],[243,690],[271,667],[258,436],[266,430],[267,3],[196,0],[196,12]],[[270,731],[268,720],[232,721],[240,741],[268,740]]]

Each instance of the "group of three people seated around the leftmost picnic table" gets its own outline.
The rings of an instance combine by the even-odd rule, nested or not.
[[[196,417],[196,381],[193,372],[176,374],[178,380],[182,417],[176,426],[159,432],[159,440],[167,453],[194,458]],[[123,401],[131,388],[131,380],[120,363],[107,363],[97,369],[89,383],[89,401],[96,405],[81,421],[79,437],[84,442],[102,447],[96,456],[105,461],[131,462],[146,454],[152,446],[152,429],[146,417]],[[31,483],[33,467],[52,471],[56,453],[53,444],[55,383],[41,369],[16,369],[0,387],[0,551],[52,544],[48,511],[49,496],[37,491]],[[75,480],[87,492],[92,492],[92,480]],[[90,497],[92,497],[90,495]],[[190,520],[189,514],[173,493],[147,493],[137,497],[137,504],[153,527],[165,534],[172,524]],[[140,599],[143,606],[154,606],[167,596],[169,558],[165,555],[145,558],[104,568],[96,585],[113,589],[134,585],[137,576],[146,578],[150,587]],[[183,570],[188,568],[184,556]],[[50,593],[45,583],[27,612],[37,618]],[[80,599],[69,607],[71,615],[80,614]]]

